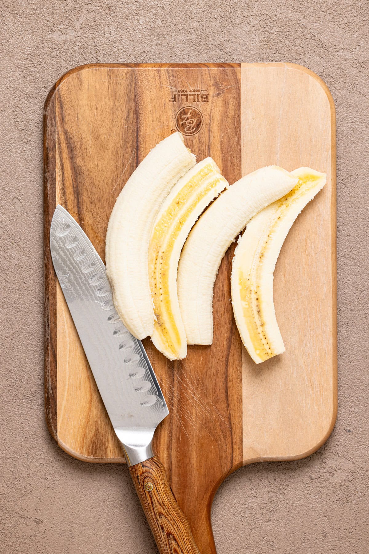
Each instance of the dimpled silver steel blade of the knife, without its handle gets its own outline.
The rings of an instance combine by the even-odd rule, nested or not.
[[[115,310],[105,265],[80,225],[57,206],[50,227],[56,275],[108,416],[124,443],[169,411],[142,342]]]

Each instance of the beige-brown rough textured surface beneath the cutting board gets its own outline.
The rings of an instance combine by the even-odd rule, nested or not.
[[[156,552],[126,467],[70,458],[43,416],[43,103],[73,66],[128,61],[292,61],[331,90],[337,424],[308,459],[233,474],[212,519],[219,554],[369,552],[368,4],[3,0],[0,17],[0,552]]]

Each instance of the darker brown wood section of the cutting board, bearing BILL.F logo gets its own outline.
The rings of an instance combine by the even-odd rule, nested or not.
[[[118,72],[117,69],[87,67],[67,75],[57,84],[52,101],[46,106],[46,135],[55,136],[54,146],[46,139],[46,167],[53,163],[56,166],[56,177],[45,182],[50,196],[46,198],[48,213],[53,212],[56,198],[56,203],[81,224],[103,260],[107,222],[115,199],[149,150],[175,131],[176,113],[187,105],[181,102],[188,100],[186,94],[194,100],[200,95],[195,106],[201,112],[202,129],[206,130],[185,136],[186,145],[198,160],[211,155],[230,183],[241,177],[239,65],[141,65],[119,66]],[[51,197],[55,182],[56,196],[54,193]],[[45,218],[47,251],[49,223],[49,218]],[[170,410],[155,434],[154,448],[167,469],[171,488],[190,521],[201,552],[215,548],[209,546],[212,496],[224,476],[242,464],[242,345],[228,300],[232,250],[222,261],[215,288],[214,345],[189,347],[186,359],[173,363],[155,350],[149,339],[144,341]],[[119,446],[111,430],[106,433],[109,424],[97,391],[90,390],[86,399],[85,394],[81,398],[72,390],[72,383],[77,388],[81,386],[82,372],[92,387],[93,381],[84,354],[72,345],[76,337],[69,312],[63,306],[60,290],[55,294],[50,258],[45,261],[48,304],[55,311],[56,302],[59,314],[57,325],[46,329],[46,342],[55,345],[57,335],[66,339],[63,343],[59,339],[58,350],[54,347],[50,353],[53,362],[46,376],[55,386],[58,366],[58,402],[64,407],[58,405],[58,425],[53,419],[52,426],[58,429],[59,444],[78,455],[77,448],[75,452],[73,447],[68,448],[67,422],[71,417],[82,419],[81,457],[117,457]],[[66,318],[68,330],[64,333],[61,329]],[[75,347],[78,351],[71,355],[70,349]],[[73,367],[67,363],[68,357]],[[66,413],[65,403],[71,401],[71,396],[76,396],[74,408]]]

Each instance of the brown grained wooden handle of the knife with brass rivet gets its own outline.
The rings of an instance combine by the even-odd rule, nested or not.
[[[129,472],[160,554],[200,554],[159,458],[131,465]]]

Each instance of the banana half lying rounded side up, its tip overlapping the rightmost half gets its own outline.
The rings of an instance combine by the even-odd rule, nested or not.
[[[188,344],[212,343],[214,283],[229,245],[257,212],[296,183],[282,167],[254,171],[223,192],[191,230],[178,268],[179,307]]]

